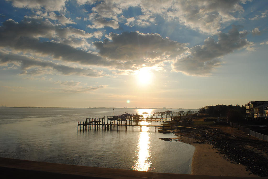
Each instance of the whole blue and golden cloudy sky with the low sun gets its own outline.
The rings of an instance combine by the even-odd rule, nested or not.
[[[0,106],[268,100],[268,1],[0,0]]]

